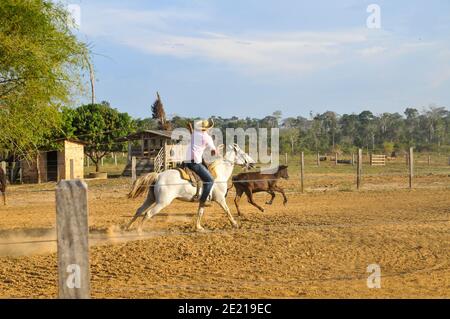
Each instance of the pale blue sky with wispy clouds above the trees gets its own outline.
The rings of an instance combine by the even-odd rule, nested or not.
[[[402,112],[450,102],[450,1],[73,0],[98,100],[150,116]],[[381,28],[366,25],[369,4]],[[87,101],[87,100],[86,100]]]

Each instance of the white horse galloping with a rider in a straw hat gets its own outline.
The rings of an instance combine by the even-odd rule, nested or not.
[[[221,149],[220,147],[219,149]],[[238,227],[238,224],[231,215],[230,209],[227,206],[225,196],[227,194],[227,183],[233,173],[234,165],[244,167],[252,167],[255,161],[242,151],[237,144],[229,145],[227,152],[223,158],[219,158],[213,162],[217,178],[214,180],[213,189],[211,190],[211,200],[215,201],[222,207],[228,216],[231,224]],[[138,208],[136,214],[127,226],[130,229],[131,225],[137,218],[143,216],[139,231],[142,229],[144,222],[167,207],[174,199],[183,201],[192,201],[196,194],[196,187],[181,178],[180,172],[177,170],[167,170],[162,173],[149,173],[140,177],[135,181],[133,187],[128,194],[128,198],[137,198],[139,195],[148,190],[147,199],[144,204]],[[198,209],[197,221],[195,229],[197,231],[204,231],[201,225],[204,208]]]

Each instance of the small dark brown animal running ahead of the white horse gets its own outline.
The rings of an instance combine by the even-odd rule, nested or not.
[[[277,185],[277,182],[280,178],[288,179],[289,175],[287,172],[287,166],[279,166],[278,170],[274,174],[262,174],[260,172],[251,172],[251,173],[241,173],[233,177],[233,186],[236,189],[236,197],[234,198],[234,204],[236,205],[236,209],[238,211],[238,215],[241,215],[241,211],[239,210],[239,200],[241,199],[242,194],[245,193],[247,195],[248,202],[258,208],[260,211],[264,212],[264,208],[259,206],[253,200],[254,193],[267,192],[272,198],[266,202],[268,205],[272,205],[273,200],[275,198],[275,192],[279,192],[283,195],[284,202],[286,205],[287,198],[284,190]]]

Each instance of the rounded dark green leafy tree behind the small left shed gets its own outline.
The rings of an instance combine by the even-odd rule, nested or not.
[[[84,152],[95,164],[96,172],[100,171],[99,164],[104,156],[124,151],[124,143],[117,139],[129,135],[135,128],[127,113],[120,113],[107,102],[65,108],[63,121],[65,137],[87,143]]]

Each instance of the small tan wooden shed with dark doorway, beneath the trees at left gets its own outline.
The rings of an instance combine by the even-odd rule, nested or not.
[[[84,145],[86,143],[63,139],[58,140],[59,151],[41,151],[33,162],[23,160],[22,182],[45,183],[60,180],[84,178]]]

